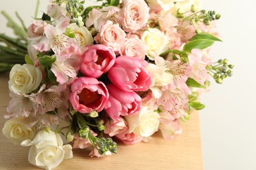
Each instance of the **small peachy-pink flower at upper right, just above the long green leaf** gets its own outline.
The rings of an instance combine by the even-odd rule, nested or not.
[[[177,31],[180,34],[181,41],[187,42],[194,35],[196,35],[196,29],[193,25],[190,25],[190,21],[181,21],[177,27]]]

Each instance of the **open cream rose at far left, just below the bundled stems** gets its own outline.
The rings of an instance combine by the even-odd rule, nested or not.
[[[10,72],[9,89],[14,93],[29,93],[35,90],[42,80],[38,67],[30,64],[16,64]]]

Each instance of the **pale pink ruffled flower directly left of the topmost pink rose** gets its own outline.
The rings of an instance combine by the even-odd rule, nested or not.
[[[89,18],[87,18],[85,25],[91,27],[94,25],[96,31],[99,31],[102,25],[104,25],[108,20],[112,21],[114,24],[117,23],[119,18],[117,12],[119,12],[118,7],[103,7],[102,9],[93,9],[89,12]]]

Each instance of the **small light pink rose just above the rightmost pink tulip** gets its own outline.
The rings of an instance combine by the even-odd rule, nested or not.
[[[135,58],[145,59],[146,46],[137,35],[131,35],[121,46],[120,54],[122,56],[131,56]]]

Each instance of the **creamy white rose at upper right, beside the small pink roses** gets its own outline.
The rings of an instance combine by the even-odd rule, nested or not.
[[[142,41],[146,44],[146,55],[150,60],[168,50],[169,40],[159,29],[149,28],[142,34]]]

